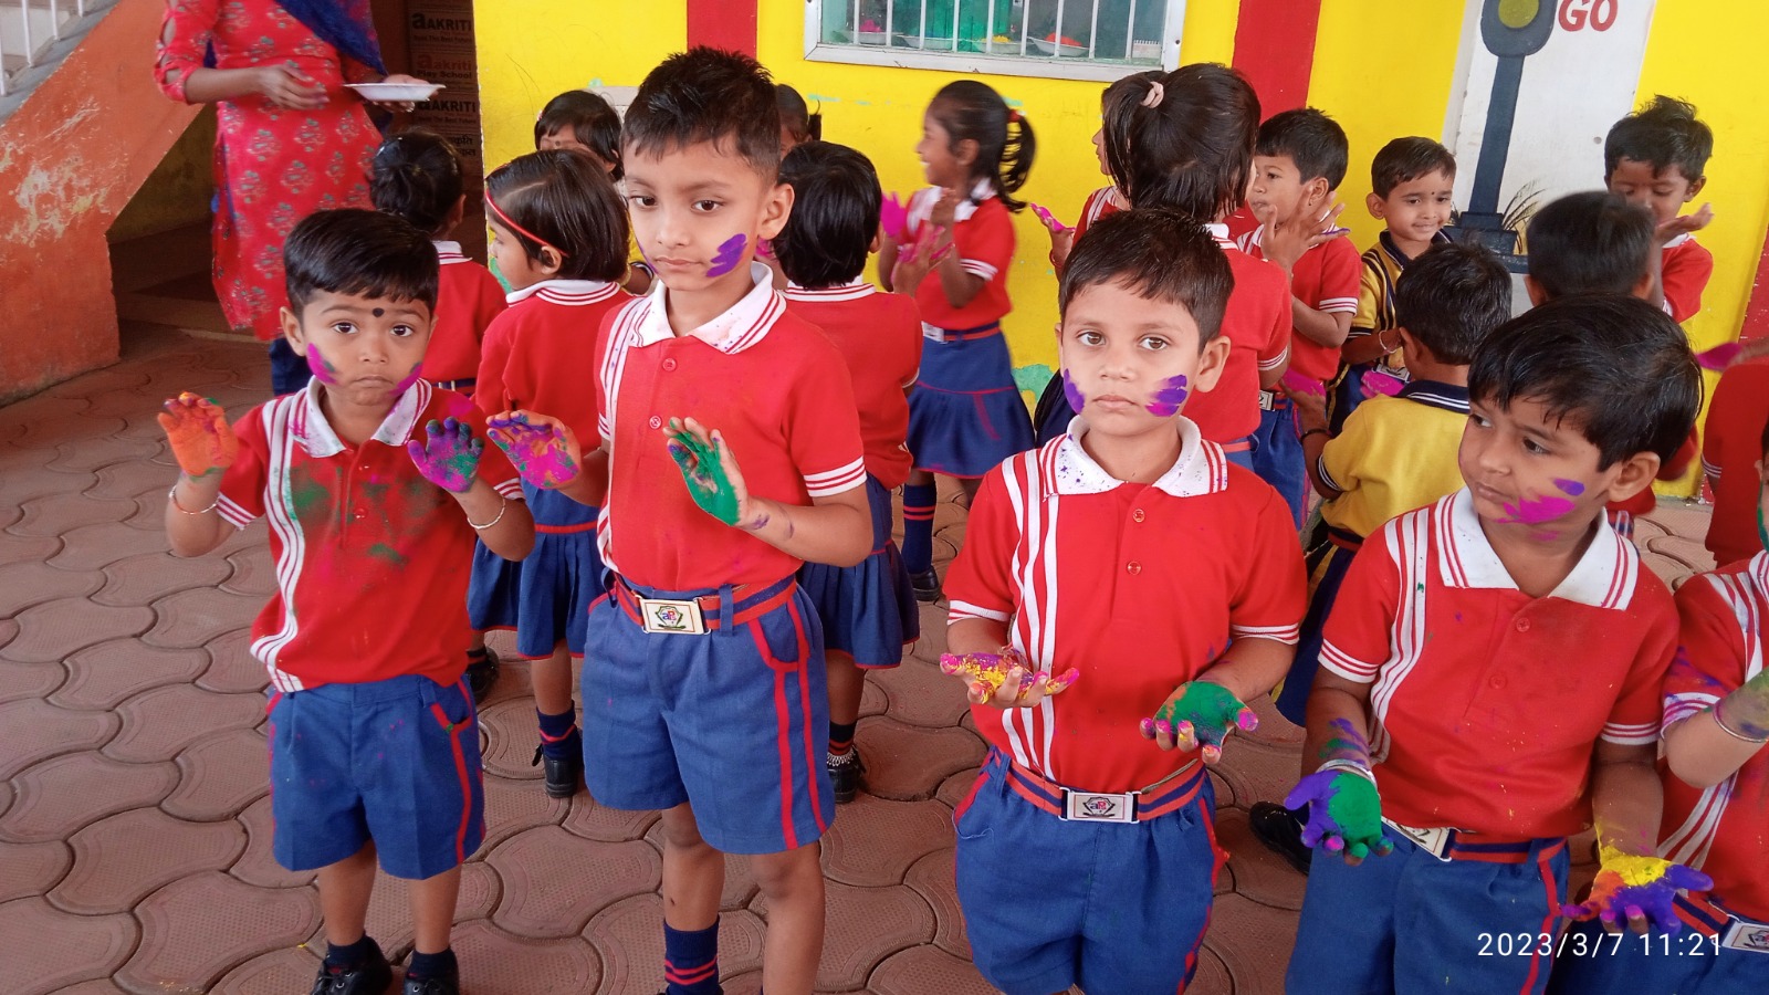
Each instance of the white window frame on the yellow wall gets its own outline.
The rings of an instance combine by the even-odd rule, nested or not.
[[[854,0],[805,0],[805,60],[842,62],[849,66],[895,66],[900,69],[939,69],[945,73],[973,73],[994,76],[1031,76],[1040,80],[1091,80],[1111,83],[1130,73],[1153,66],[1127,66],[1123,62],[1093,62],[1053,55],[987,55],[980,51],[923,51],[895,44],[837,44],[823,41],[824,5],[847,9]],[[957,4],[953,2],[953,11]],[[1063,4],[1095,4],[1099,0],[1061,0]],[[1180,37],[1185,25],[1185,0],[1137,0],[1137,4],[1166,4],[1168,14],[1160,35],[1160,67],[1180,67]],[[886,7],[888,9],[888,7]],[[1061,9],[1061,7],[1060,7]],[[923,0],[925,11],[925,0]],[[923,14],[925,19],[925,14]],[[1021,41],[1024,50],[1028,42]]]

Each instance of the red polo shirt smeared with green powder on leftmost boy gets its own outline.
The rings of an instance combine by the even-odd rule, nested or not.
[[[460,680],[467,666],[467,574],[476,533],[460,505],[405,451],[430,421],[456,418],[485,437],[465,397],[417,381],[375,436],[345,444],[320,411],[318,381],[248,411],[239,459],[221,478],[221,517],[271,521],[276,593],[251,625],[251,655],[278,690],[423,675]],[[479,480],[520,501],[522,482],[492,444]]]

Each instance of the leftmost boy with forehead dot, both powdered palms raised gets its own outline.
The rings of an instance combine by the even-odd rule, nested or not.
[[[437,296],[428,235],[391,214],[320,211],[283,248],[283,335],[304,391],[228,428],[195,395],[159,416],[184,471],[166,501],[179,556],[271,519],[278,593],[253,623],[271,671],[276,860],[318,871],[329,951],[315,991],[379,993],[363,931],[375,862],[410,882],[405,991],[453,995],[460,864],[485,832],[479,733],[462,680],[478,533],[522,559],[534,526],[467,398],[419,379]]]

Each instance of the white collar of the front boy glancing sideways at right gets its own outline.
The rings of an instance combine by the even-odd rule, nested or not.
[[[1474,512],[1474,496],[1467,487],[1451,494],[1449,515],[1442,508],[1431,515],[1438,540],[1438,570],[1451,588],[1518,590],[1511,572],[1493,552]],[[1599,522],[1585,554],[1573,572],[1553,590],[1551,598],[1566,598],[1592,607],[1626,609],[1635,597],[1640,575],[1640,554],[1608,524]]]

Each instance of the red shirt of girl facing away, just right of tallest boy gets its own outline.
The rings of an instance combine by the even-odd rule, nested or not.
[[[915,299],[860,280],[842,287],[785,289],[785,310],[823,329],[847,361],[860,405],[867,473],[886,489],[909,478],[909,398],[922,368],[922,315]]]

